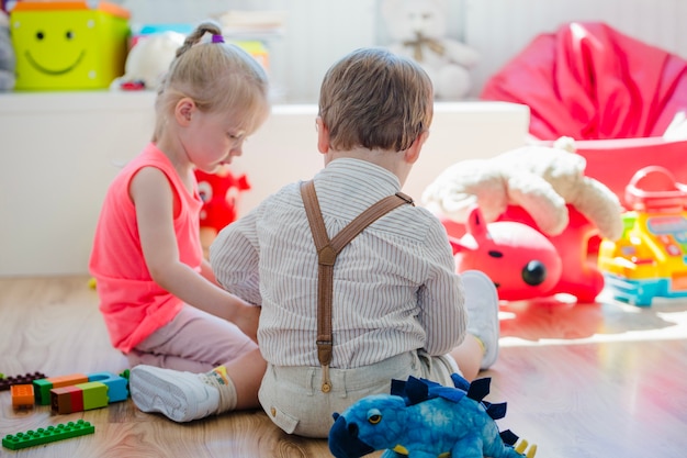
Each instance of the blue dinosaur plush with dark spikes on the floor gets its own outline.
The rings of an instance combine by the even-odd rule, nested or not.
[[[329,450],[336,458],[358,458],[385,450],[383,458],[533,458],[537,446],[495,420],[506,415],[506,403],[483,401],[491,379],[469,383],[454,373],[452,387],[408,378],[393,380],[391,394],[365,396],[335,413]],[[527,455],[525,455],[527,453]]]

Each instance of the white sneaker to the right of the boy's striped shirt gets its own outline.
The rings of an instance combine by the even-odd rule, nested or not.
[[[477,336],[485,351],[480,369],[488,369],[498,357],[498,293],[494,282],[480,270],[461,272],[465,289],[468,332]]]

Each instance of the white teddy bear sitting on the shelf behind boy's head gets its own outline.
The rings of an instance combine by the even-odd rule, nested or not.
[[[423,66],[437,99],[458,100],[468,94],[470,68],[480,55],[447,36],[448,0],[384,0],[381,12],[392,40],[388,48]]]

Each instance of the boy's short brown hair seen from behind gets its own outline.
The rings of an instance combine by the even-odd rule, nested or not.
[[[429,129],[432,114],[425,70],[382,48],[357,49],[337,62],[319,92],[319,115],[336,150],[405,150]]]

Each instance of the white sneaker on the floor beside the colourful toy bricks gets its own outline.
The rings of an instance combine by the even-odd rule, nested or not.
[[[129,391],[134,404],[143,412],[159,412],[174,422],[204,418],[217,412],[219,391],[203,381],[205,375],[134,366]]]

